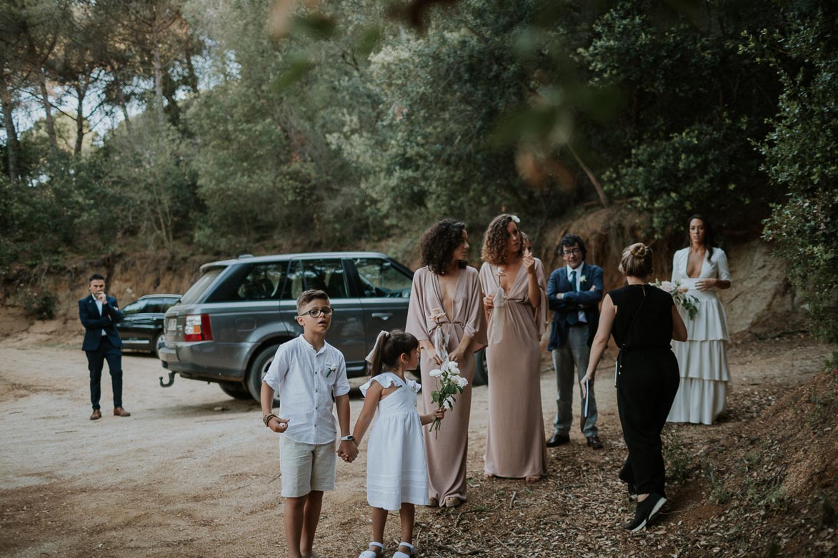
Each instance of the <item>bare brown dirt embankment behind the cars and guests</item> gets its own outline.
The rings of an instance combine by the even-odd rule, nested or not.
[[[576,220],[548,226],[535,245],[535,253],[544,261],[548,272],[563,265],[556,254],[561,237],[577,233],[587,243],[587,262],[599,265],[605,273],[606,290],[623,284],[617,267],[623,248],[630,243],[648,241],[644,222],[636,212],[622,206],[588,212]],[[478,233],[472,231],[473,236]],[[654,276],[669,279],[672,254],[680,243],[651,243],[654,248]],[[368,247],[360,246],[365,249]],[[805,315],[799,308],[794,287],[786,278],[787,264],[774,259],[767,243],[761,240],[740,240],[727,246],[733,286],[722,291],[722,302],[732,335],[768,335],[784,330],[804,330]],[[378,246],[369,249],[384,249]],[[404,263],[416,268],[416,251]],[[230,254],[233,256],[234,254]],[[479,265],[478,243],[474,243],[472,264]],[[108,294],[122,305],[143,294],[183,294],[197,279],[199,267],[215,257],[158,251],[149,253],[114,253],[102,258],[75,258],[64,264],[40,265],[35,269],[19,266],[0,284],[0,336],[41,335],[51,342],[70,342],[80,332],[76,301],[87,294],[86,283],[91,273],[106,276]],[[39,294],[56,297],[54,320],[34,320],[26,315],[23,305],[31,305]]]

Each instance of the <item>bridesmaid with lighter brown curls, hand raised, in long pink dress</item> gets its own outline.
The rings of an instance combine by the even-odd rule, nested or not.
[[[515,215],[499,215],[483,237],[480,285],[489,316],[484,474],[535,483],[547,472],[539,384],[547,282],[544,264],[523,248],[519,221]]]

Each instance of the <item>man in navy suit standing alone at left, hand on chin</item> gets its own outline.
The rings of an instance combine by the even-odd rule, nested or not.
[[[105,294],[104,277],[92,274],[89,284],[91,295],[79,300],[79,319],[81,325],[85,326],[85,340],[81,350],[87,355],[87,369],[91,371],[91,421],[102,417],[99,398],[105,361],[111,372],[113,414],[116,417],[130,417],[131,413],[122,408],[122,339],[116,331],[116,322],[122,320],[122,313],[116,299]]]

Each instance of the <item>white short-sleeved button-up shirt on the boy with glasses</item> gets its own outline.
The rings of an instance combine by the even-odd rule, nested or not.
[[[300,443],[334,442],[334,398],[349,393],[340,351],[328,343],[315,351],[300,335],[279,346],[264,381],[282,401],[279,415],[288,419],[283,436]]]

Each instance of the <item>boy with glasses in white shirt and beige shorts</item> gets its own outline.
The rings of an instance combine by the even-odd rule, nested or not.
[[[338,455],[351,463],[358,447],[349,435],[349,381],[344,356],[326,342],[333,310],[328,294],[310,289],[297,297],[297,323],[303,335],[283,343],[261,387],[262,422],[279,440],[283,523],[289,558],[312,556],[323,491],[334,489],[335,438],[332,403],[338,410]],[[273,394],[282,398],[282,415],[272,412]]]

